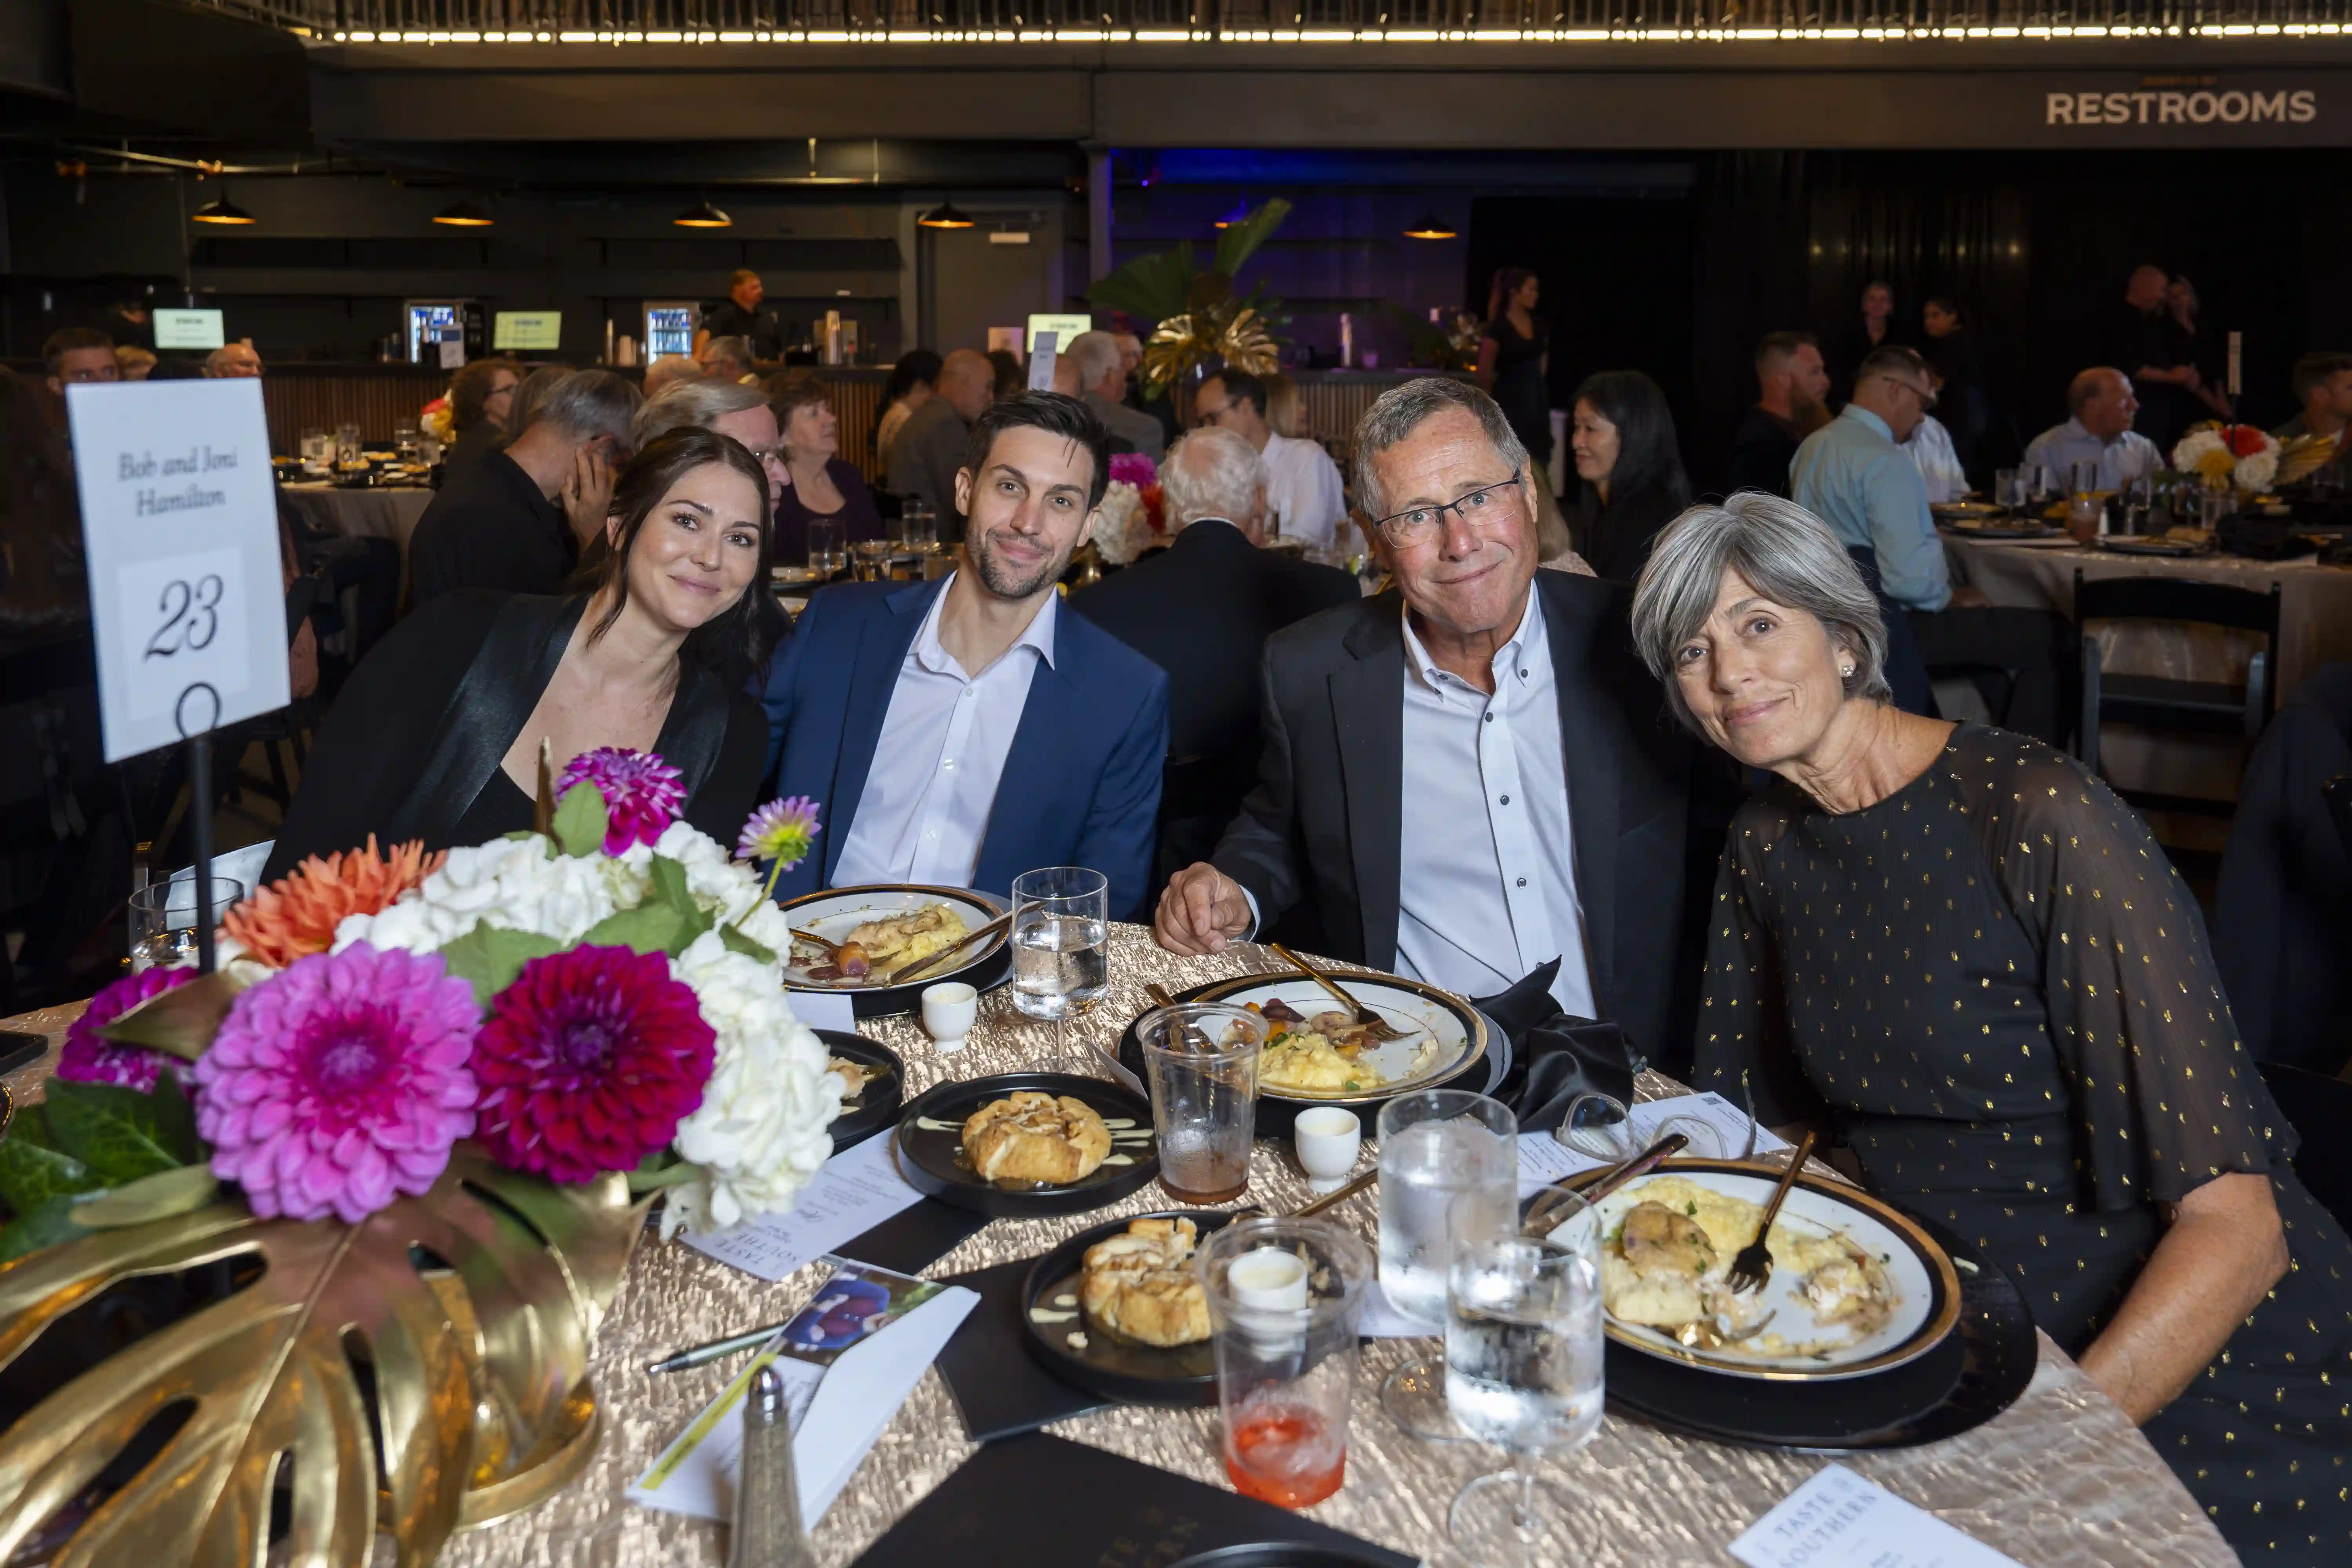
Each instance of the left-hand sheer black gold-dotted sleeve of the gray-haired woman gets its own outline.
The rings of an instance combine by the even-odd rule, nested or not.
[[[1696,1088],[1712,1088],[1733,1105],[1752,1091],[1757,1119],[1769,1126],[1823,1112],[1820,1093],[1790,1044],[1788,973],[1764,919],[1771,907],[1771,846],[1785,825],[1788,818],[1769,802],[1755,802],[1731,820],[1708,910],[1708,969],[1691,1072]]]

